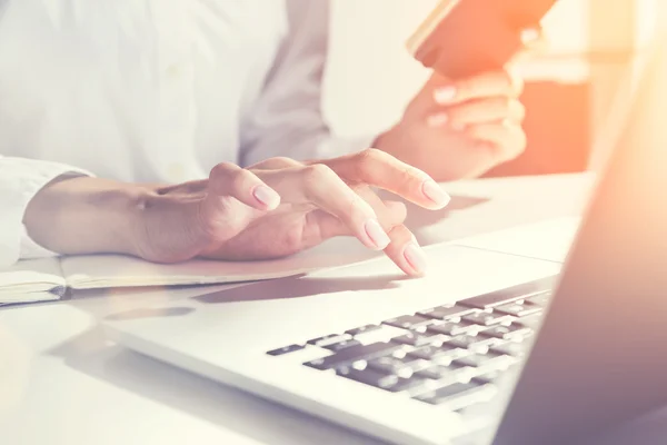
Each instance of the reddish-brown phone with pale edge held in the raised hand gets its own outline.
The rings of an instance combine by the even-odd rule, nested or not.
[[[441,0],[407,42],[415,59],[450,79],[504,68],[524,31],[558,0]]]

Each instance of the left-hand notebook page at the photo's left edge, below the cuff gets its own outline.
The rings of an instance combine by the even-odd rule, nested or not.
[[[64,289],[59,258],[27,259],[0,269],[0,304],[54,300]]]

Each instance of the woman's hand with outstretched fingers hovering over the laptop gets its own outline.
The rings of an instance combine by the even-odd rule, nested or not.
[[[420,275],[426,261],[415,237],[402,225],[405,206],[382,201],[372,187],[430,209],[449,201],[426,174],[372,149],[308,164],[287,158],[269,159],[249,169],[220,164],[206,180],[146,187],[141,192],[133,189],[127,194],[131,204],[121,204],[118,192],[108,190],[79,199],[77,205],[67,199],[62,202],[63,197],[86,196],[81,190],[94,189],[91,181],[96,179],[69,179],[38,194],[26,216],[36,240],[63,254],[116,251],[175,263],[193,257],[276,258],[331,237],[355,236],[368,248],[385,250],[407,274]],[[74,188],[79,191],[72,191]],[[52,221],[62,220],[68,209],[78,210],[79,219],[70,215],[64,217],[68,224],[42,227],[40,208],[58,199],[61,206],[53,210],[61,216]],[[86,209],[82,201],[97,204],[97,211]],[[115,210],[100,208],[104,202]],[[109,233],[104,228],[108,224],[116,225],[111,229],[115,237],[96,240],[91,229]],[[66,226],[70,233],[63,235]],[[61,234],[39,236],[49,230]]]

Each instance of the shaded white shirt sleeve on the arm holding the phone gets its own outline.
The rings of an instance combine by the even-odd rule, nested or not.
[[[241,165],[276,156],[331,158],[372,145],[376,135],[332,136],[322,116],[329,6],[329,1],[287,1],[288,34],[260,98],[241,123]]]

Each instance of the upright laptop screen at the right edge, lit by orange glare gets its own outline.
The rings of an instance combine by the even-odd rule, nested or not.
[[[629,105],[618,119],[629,119],[495,445],[589,443],[667,405],[667,27],[658,29],[638,88],[617,100]]]

